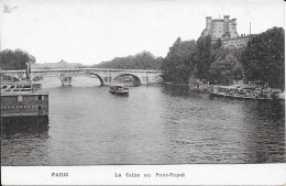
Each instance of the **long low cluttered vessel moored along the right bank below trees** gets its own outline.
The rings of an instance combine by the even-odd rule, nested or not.
[[[271,88],[257,88],[253,85],[231,85],[231,86],[215,86],[210,89],[210,95],[229,97],[229,98],[241,98],[241,99],[260,99],[267,100],[273,99],[274,95],[278,90]]]

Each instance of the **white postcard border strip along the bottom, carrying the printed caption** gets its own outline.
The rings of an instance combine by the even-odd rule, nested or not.
[[[286,183],[285,165],[284,163],[277,163],[228,165],[1,166],[1,184],[284,185]],[[151,174],[151,177],[146,174]]]

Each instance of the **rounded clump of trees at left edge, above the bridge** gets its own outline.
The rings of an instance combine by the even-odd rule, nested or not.
[[[21,50],[6,50],[0,52],[0,68],[4,70],[10,69],[25,69],[26,63],[34,64],[35,57],[28,52]]]

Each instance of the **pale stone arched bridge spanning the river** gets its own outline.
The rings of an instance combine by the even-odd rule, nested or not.
[[[26,70],[1,70],[1,76],[7,75],[18,79],[26,77]],[[132,76],[138,84],[154,84],[162,81],[162,70],[152,69],[112,69],[112,68],[65,68],[65,69],[31,69],[31,79],[56,76],[63,86],[72,86],[72,77],[91,74],[99,78],[101,85],[110,85],[120,76]]]

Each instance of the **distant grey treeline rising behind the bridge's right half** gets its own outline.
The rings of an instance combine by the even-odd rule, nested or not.
[[[155,57],[150,52],[143,52],[134,56],[116,57],[110,62],[102,62],[94,67],[117,69],[160,69],[162,62],[162,57]]]

